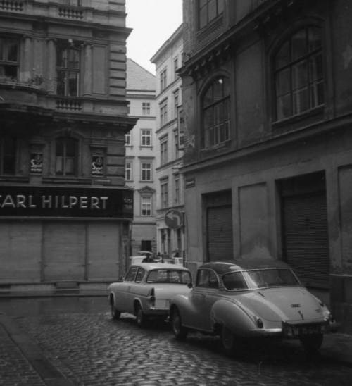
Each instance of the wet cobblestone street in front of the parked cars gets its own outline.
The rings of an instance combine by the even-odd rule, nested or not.
[[[257,346],[234,358],[218,339],[191,334],[177,342],[165,323],[141,330],[134,317],[112,320],[105,298],[96,311],[77,309],[12,316],[65,385],[350,385],[352,368],[320,356],[307,359],[294,342]],[[48,385],[0,330],[0,385]],[[28,344],[27,344],[28,345]],[[46,369],[47,371],[47,369]],[[48,376],[48,378],[50,378]],[[51,383],[51,385],[59,385]],[[60,383],[63,385],[63,383]]]

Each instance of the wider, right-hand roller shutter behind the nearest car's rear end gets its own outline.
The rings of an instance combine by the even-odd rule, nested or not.
[[[311,287],[329,287],[325,192],[283,197],[284,257]]]

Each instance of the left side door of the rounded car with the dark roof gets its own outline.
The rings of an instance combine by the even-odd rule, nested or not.
[[[184,323],[197,330],[211,330],[210,309],[215,301],[218,290],[218,278],[213,270],[199,269],[194,290],[189,294],[191,304],[190,313],[185,317]]]

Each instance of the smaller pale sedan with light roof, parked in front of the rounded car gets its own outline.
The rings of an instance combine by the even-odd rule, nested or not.
[[[108,301],[113,318],[122,312],[136,316],[142,327],[151,317],[166,318],[170,301],[177,294],[191,290],[187,268],[165,263],[134,263],[125,278],[108,286]]]

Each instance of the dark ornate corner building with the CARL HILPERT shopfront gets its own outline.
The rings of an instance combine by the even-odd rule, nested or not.
[[[0,4],[0,287],[58,290],[125,270],[125,1]]]

